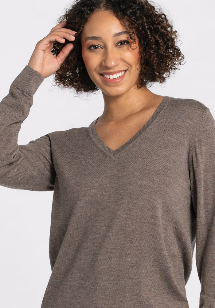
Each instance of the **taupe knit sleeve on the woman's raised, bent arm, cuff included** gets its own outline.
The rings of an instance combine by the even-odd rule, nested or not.
[[[33,95],[43,77],[25,66],[0,102],[0,185],[32,191],[54,189],[55,169],[49,134],[18,145],[22,122],[29,115]]]

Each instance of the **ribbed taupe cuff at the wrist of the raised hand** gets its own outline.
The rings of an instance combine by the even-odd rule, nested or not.
[[[14,79],[12,85],[28,95],[33,96],[43,80],[44,78],[39,72],[34,71],[32,67],[26,65],[21,73]]]

